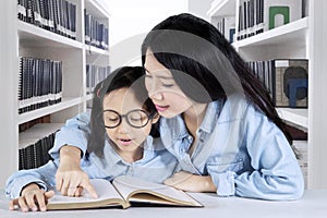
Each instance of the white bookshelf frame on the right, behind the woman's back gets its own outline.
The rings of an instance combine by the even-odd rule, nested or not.
[[[327,89],[324,85],[327,82],[324,73],[327,45],[323,37],[327,34],[327,17],[324,15],[327,5],[323,0],[307,2],[307,16],[245,39],[235,39],[232,45],[245,61],[308,59],[308,108],[277,108],[277,111],[288,123],[306,130],[308,134],[307,189],[326,189],[327,171],[323,166],[327,165],[324,158],[327,156],[324,143],[327,119],[322,114],[327,110],[327,98],[324,97]],[[239,3],[239,0],[214,0],[207,14],[211,21],[227,15],[234,15],[238,21]]]

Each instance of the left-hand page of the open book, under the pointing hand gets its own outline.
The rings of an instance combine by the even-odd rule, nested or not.
[[[49,199],[48,205],[85,204],[104,202],[106,199],[122,199],[121,195],[109,181],[105,179],[92,179],[90,183],[98,194],[97,198],[93,198],[86,190],[83,191],[83,194],[80,197],[63,196],[61,193],[57,192],[56,195]]]

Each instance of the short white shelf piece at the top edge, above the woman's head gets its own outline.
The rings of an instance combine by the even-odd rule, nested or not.
[[[215,0],[215,1],[213,1],[207,14],[209,16],[235,15],[235,1]]]

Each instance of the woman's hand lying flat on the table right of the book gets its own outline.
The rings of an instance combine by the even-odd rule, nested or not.
[[[186,192],[216,192],[217,187],[214,184],[210,175],[197,175],[190,172],[180,171],[167,179],[165,184],[173,186],[178,190]]]

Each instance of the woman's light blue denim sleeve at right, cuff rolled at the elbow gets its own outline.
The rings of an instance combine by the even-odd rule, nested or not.
[[[244,140],[253,170],[234,174],[235,195],[264,199],[296,199],[304,180],[291,145],[282,131],[261,111],[249,106]]]

